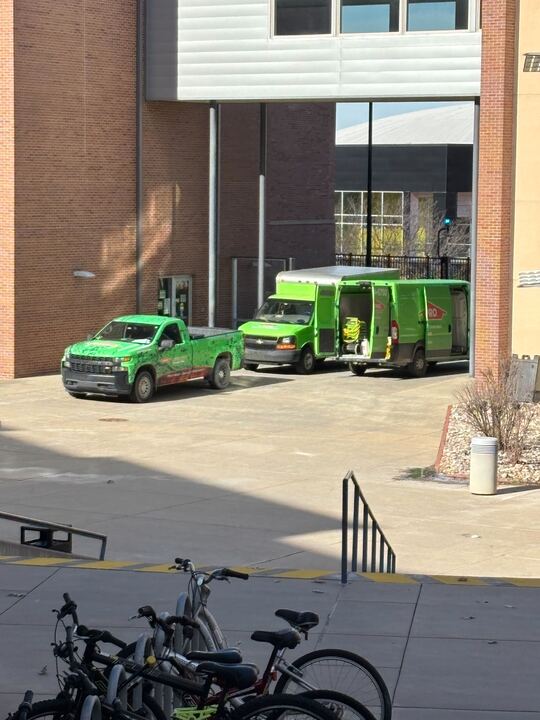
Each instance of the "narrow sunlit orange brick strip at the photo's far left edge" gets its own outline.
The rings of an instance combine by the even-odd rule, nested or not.
[[[14,373],[15,118],[13,0],[0,3],[0,378]]]

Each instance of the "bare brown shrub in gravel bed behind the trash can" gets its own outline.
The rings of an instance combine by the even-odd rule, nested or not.
[[[515,399],[517,367],[511,360],[501,363],[498,373],[483,371],[481,377],[457,394],[469,424],[482,435],[495,437],[510,463],[518,463],[527,446],[534,418],[532,403]]]

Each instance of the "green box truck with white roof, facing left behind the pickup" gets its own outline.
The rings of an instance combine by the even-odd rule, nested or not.
[[[369,278],[398,277],[399,272],[393,269],[349,266],[280,272],[275,294],[253,320],[239,328],[244,333],[244,367],[256,370],[259,363],[292,364],[299,373],[313,372],[317,361],[341,353],[339,308],[343,288],[350,292],[359,290]]]

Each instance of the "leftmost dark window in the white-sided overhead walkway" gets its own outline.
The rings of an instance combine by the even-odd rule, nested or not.
[[[332,0],[275,0],[276,35],[327,35],[332,30]]]

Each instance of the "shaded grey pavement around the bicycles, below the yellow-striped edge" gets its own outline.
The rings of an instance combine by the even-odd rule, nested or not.
[[[282,627],[278,607],[317,612],[319,626],[290,657],[325,647],[363,655],[385,678],[394,720],[540,720],[540,587],[401,580],[253,577],[214,583],[210,605],[230,644],[259,666],[268,653],[253,630]],[[0,716],[27,688],[36,699],[57,691],[51,609],[63,592],[81,623],[129,641],[145,626],[128,617],[143,604],[173,611],[186,584],[175,573],[0,563]]]

